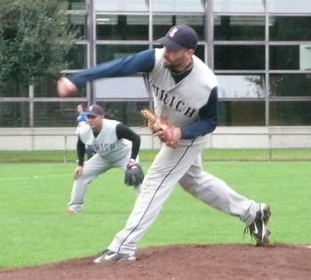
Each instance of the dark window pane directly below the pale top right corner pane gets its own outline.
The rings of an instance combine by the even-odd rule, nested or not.
[[[270,40],[271,41],[310,41],[310,38],[311,38],[310,26],[311,26],[311,17],[273,17],[273,18],[270,18],[269,20]]]

